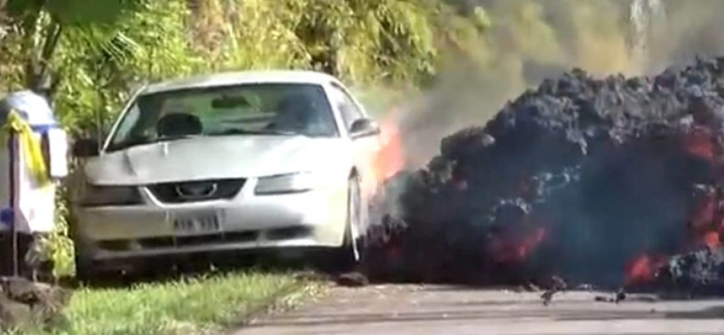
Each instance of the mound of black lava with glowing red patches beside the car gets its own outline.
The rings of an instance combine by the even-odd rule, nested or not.
[[[377,280],[724,285],[722,125],[724,58],[544,81],[387,180],[402,192],[365,266]],[[378,167],[396,171],[387,139]]]

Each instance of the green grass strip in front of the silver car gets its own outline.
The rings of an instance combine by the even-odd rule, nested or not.
[[[80,289],[51,334],[215,333],[317,287],[280,273],[226,273],[123,289]],[[39,333],[47,334],[47,333]]]

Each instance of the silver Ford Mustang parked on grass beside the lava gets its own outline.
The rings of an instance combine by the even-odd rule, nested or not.
[[[337,79],[235,72],[149,85],[110,135],[79,140],[85,275],[156,255],[329,247],[358,259],[379,128]]]

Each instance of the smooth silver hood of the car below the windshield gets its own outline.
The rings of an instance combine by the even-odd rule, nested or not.
[[[344,139],[302,136],[178,139],[90,158],[85,175],[100,185],[274,176],[351,164],[350,151]]]

